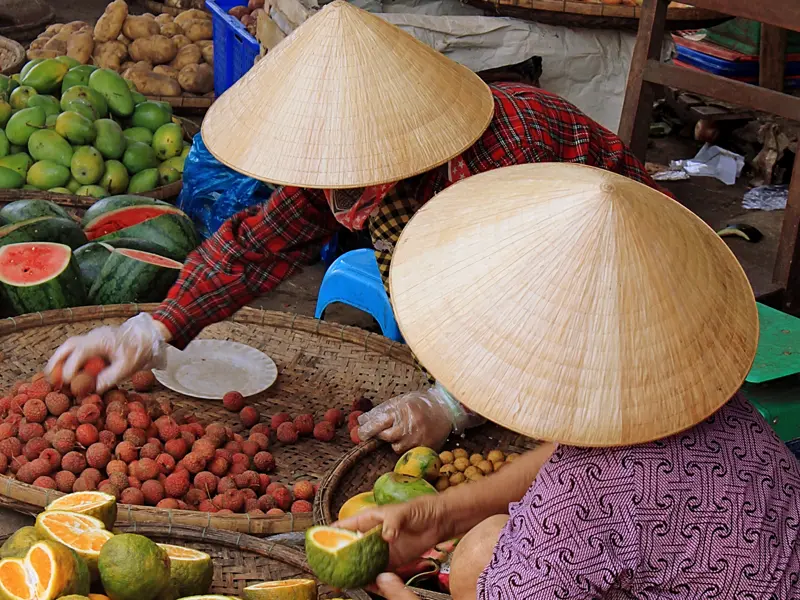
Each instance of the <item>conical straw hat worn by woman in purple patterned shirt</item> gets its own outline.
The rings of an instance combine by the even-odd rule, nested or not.
[[[579,165],[446,189],[404,229],[390,285],[403,336],[456,398],[577,446],[699,423],[737,391],[758,342],[747,278],[703,221]]]

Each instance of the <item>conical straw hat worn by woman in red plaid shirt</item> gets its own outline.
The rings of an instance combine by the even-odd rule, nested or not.
[[[444,164],[475,143],[493,113],[489,87],[469,69],[336,0],[218,98],[202,134],[240,173],[335,189]]]

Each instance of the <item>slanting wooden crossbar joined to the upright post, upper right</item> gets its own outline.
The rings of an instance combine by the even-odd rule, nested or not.
[[[684,67],[648,60],[644,69],[647,81],[710,96],[747,108],[753,108],[794,121],[800,121],[800,98],[773,90],[693,71]]]

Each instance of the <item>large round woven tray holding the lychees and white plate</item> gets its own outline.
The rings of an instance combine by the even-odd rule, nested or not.
[[[155,307],[89,306],[0,319],[0,390],[40,371],[67,337],[119,324]],[[358,396],[377,403],[419,389],[425,381],[406,346],[363,329],[298,315],[246,308],[231,320],[206,328],[200,337],[242,342],[272,357],[278,365],[277,382],[248,400],[259,408],[263,420],[282,411],[293,416],[308,412],[319,418],[327,409],[349,405]],[[176,409],[189,410],[204,422],[221,421],[242,430],[238,415],[224,410],[221,402],[195,400],[164,388],[154,396],[169,398]],[[303,438],[293,446],[275,443],[270,451],[278,470],[271,477],[283,483],[301,478],[321,481],[352,447],[346,427],[329,443],[313,438]],[[11,478],[0,478],[0,494],[16,501],[13,508],[26,513],[38,512],[58,495]],[[121,521],[199,525],[256,535],[300,531],[312,523],[310,513],[219,517],[151,507],[122,507],[119,513]]]

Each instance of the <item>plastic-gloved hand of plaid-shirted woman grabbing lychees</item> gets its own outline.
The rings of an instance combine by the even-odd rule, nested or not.
[[[68,384],[87,360],[102,356],[110,363],[97,377],[97,392],[102,394],[136,371],[163,367],[168,338],[162,323],[140,313],[119,327],[99,327],[68,339],[48,361],[45,374],[50,377],[63,363],[61,379]]]

